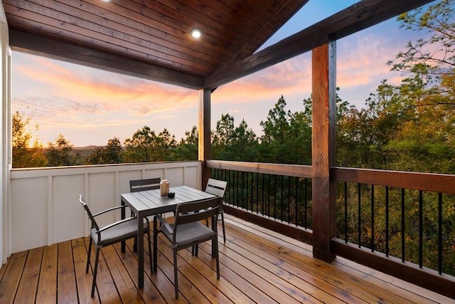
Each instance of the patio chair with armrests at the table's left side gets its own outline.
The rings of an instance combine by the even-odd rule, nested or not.
[[[85,203],[82,195],[79,196],[79,201],[85,209],[87,216],[92,222],[92,227],[90,229],[90,244],[87,251],[87,266],[85,268],[85,273],[88,273],[88,268],[90,266],[90,253],[92,251],[92,241],[95,243],[96,256],[95,256],[95,266],[93,267],[93,281],[92,281],[92,298],[95,295],[95,285],[97,279],[97,268],[98,268],[98,259],[100,256],[100,249],[112,245],[114,243],[119,243],[121,241],[126,241],[127,239],[133,239],[137,237],[137,218],[130,217],[128,219],[123,219],[122,221],[116,221],[115,223],[109,224],[107,226],[101,227],[97,224],[95,220],[96,216],[105,214],[109,211],[115,211],[117,209],[125,208],[127,206],[115,206],[96,214],[92,214],[87,203]],[[149,221],[144,219],[144,234],[147,234],[149,237],[149,258],[150,258],[150,271],[153,272],[152,260],[151,260],[151,245],[150,245],[150,226]]]

